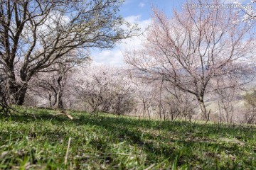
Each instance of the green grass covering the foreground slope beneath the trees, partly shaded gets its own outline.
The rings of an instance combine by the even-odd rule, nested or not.
[[[25,112],[24,108],[19,111]],[[33,114],[32,114],[33,113]],[[255,169],[256,128],[28,109],[0,116],[0,169]],[[36,116],[36,119],[34,117]],[[71,138],[67,164],[65,154]]]

